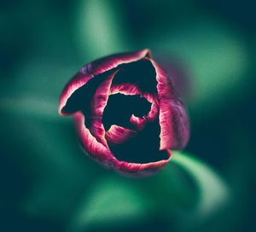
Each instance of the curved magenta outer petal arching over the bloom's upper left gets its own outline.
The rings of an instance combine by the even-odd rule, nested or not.
[[[149,49],[139,50],[137,52],[127,52],[120,53],[116,55],[109,55],[92,61],[91,63],[82,67],[66,85],[65,89],[62,91],[60,104],[59,104],[59,113],[61,115],[69,115],[71,113],[63,112],[63,107],[67,103],[67,99],[73,95],[75,90],[78,90],[84,84],[86,84],[90,78],[93,78],[97,74],[107,72],[114,67],[118,67],[120,64],[131,63],[134,61],[139,61],[144,57],[151,58],[151,53]]]

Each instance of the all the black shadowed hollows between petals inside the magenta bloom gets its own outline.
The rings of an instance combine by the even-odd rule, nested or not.
[[[136,136],[128,136],[127,140],[123,143],[113,143],[107,140],[109,149],[114,157],[120,161],[131,163],[143,164],[168,159],[169,156],[166,150],[159,150],[160,125],[158,117],[154,121],[148,121],[142,131],[137,131],[135,125],[131,124],[130,121],[132,114],[141,119],[143,119],[143,116],[148,115],[151,102],[148,102],[143,97],[144,93],[150,93],[152,96],[157,95],[155,69],[148,60],[122,64],[108,72],[91,78],[67,100],[66,106],[63,107],[63,112],[74,113],[81,111],[85,116],[85,126],[90,129],[92,120],[95,119],[95,115],[92,115],[91,102],[96,95],[96,90],[104,80],[116,71],[117,73],[114,74],[112,80],[113,86],[124,87],[125,84],[131,84],[141,94],[130,93],[128,89],[125,95],[124,93],[120,94],[117,92],[108,96],[108,103],[102,115],[102,124],[105,131],[108,131],[111,125],[118,125],[136,133]],[[117,140],[119,139],[118,136],[116,138]]]

